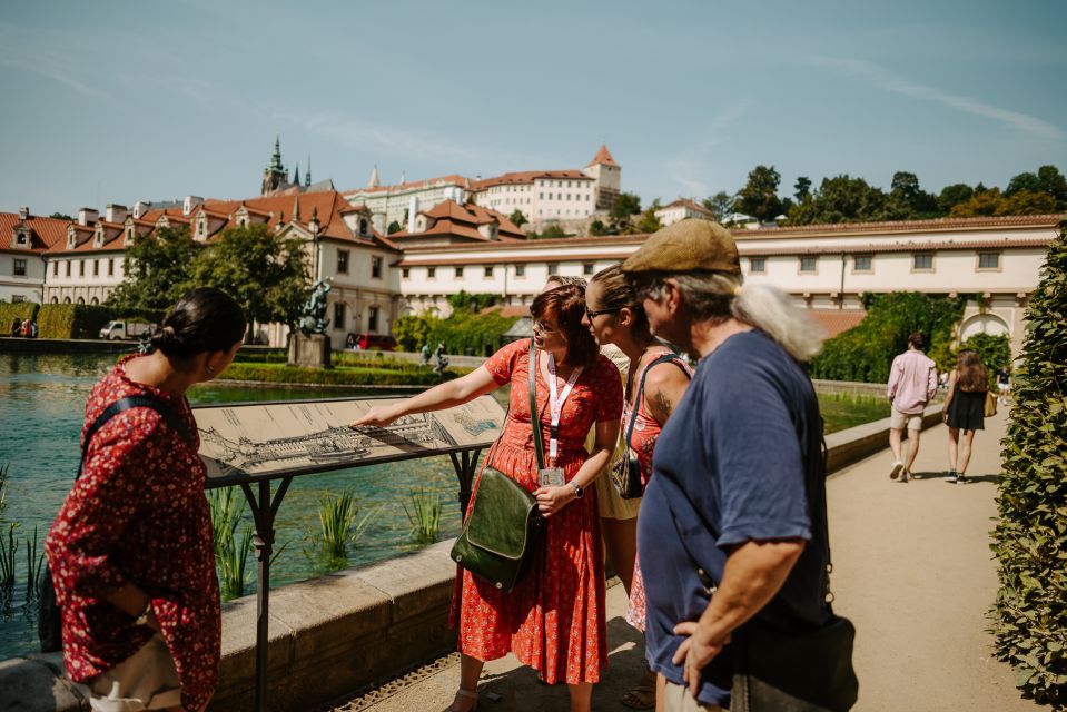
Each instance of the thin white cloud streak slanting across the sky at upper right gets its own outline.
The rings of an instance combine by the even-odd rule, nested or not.
[[[941,106],[991,119],[1011,129],[1043,139],[1060,140],[1064,138],[1064,131],[1048,121],[1022,113],[1004,109],[986,103],[974,97],[941,91],[936,87],[922,85],[903,77],[899,77],[885,67],[861,59],[848,59],[840,57],[808,56],[801,58],[806,63],[831,71],[844,77],[869,81],[885,91],[899,93],[901,96],[940,103]]]

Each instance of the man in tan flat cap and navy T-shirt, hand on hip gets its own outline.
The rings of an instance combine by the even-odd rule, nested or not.
[[[638,523],[658,709],[719,710],[742,624],[810,631],[831,616],[822,421],[801,366],[821,338],[788,295],[742,284],[714,222],[660,230],[622,269],[653,333],[700,359]]]

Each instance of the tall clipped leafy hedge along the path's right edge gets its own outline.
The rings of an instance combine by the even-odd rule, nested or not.
[[[1067,224],[1027,309],[992,532],[997,655],[1026,696],[1067,706]]]

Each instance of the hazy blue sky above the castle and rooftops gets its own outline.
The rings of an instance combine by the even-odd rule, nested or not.
[[[0,211],[585,166],[648,204],[757,165],[927,190],[1067,172],[1058,0],[0,6]]]

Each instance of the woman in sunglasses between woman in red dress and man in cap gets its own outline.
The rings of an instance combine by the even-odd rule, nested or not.
[[[690,368],[674,352],[652,336],[644,309],[638,304],[633,286],[626,280],[619,265],[596,273],[590,280],[585,290],[585,324],[601,349],[612,345],[626,357],[628,378],[619,428],[620,439],[623,457],[629,457],[630,448],[636,454],[641,482],[646,485],[652,476],[655,441],[689,386]],[[642,379],[643,390],[640,389]],[[628,447],[625,437],[631,424],[633,429]],[[614,495],[621,502],[641,502],[639,497],[623,500],[619,496],[607,476],[600,477],[596,482],[597,495],[610,491],[607,495]],[[629,513],[629,510],[624,512]],[[610,514],[612,513],[604,513],[602,505],[604,540],[612,543],[607,550],[609,557],[630,596],[626,621],[644,633],[644,585],[636,562],[636,512],[629,517],[613,517]],[[655,673],[646,666],[644,679],[623,695],[622,703],[634,710],[655,706]]]

